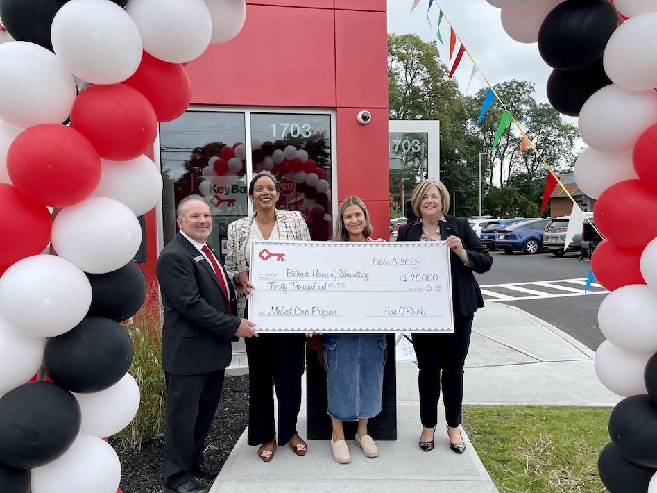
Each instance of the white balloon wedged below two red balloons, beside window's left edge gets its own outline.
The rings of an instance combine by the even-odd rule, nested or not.
[[[128,206],[135,216],[146,214],[162,196],[162,174],[148,156],[129,161],[101,159],[101,181],[92,195]]]

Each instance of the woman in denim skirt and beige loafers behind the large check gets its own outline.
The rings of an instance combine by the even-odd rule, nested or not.
[[[340,206],[339,220],[333,240],[367,242],[372,224],[359,197],[347,197]],[[386,337],[378,334],[324,335],[323,356],[326,369],[328,414],[333,435],[333,460],[350,462],[343,431],[343,421],[358,421],[356,446],[366,457],[377,457],[379,451],[367,434],[367,422],[381,412],[383,367],[386,362]]]

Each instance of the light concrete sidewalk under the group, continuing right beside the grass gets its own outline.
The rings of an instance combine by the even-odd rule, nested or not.
[[[464,403],[613,406],[620,397],[597,380],[593,354],[527,312],[490,303],[475,315]],[[496,492],[466,433],[466,453],[458,456],[450,451],[442,405],[436,449],[425,453],[418,448],[417,372],[413,362],[398,363],[398,440],[377,442],[378,458],[362,456],[350,443],[352,462],[339,465],[331,458],[327,440],[309,440],[305,457],[283,447],[265,464],[257,449],[246,444],[245,432],[210,492]],[[298,426],[302,436],[305,425],[304,402]]]

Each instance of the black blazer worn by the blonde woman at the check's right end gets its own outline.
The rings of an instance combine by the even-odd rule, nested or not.
[[[470,267],[466,267],[454,252],[450,255],[452,262],[452,301],[454,304],[454,317],[468,317],[484,306],[481,290],[472,275],[472,271],[479,274],[488,272],[493,267],[493,257],[486,247],[481,244],[475,231],[472,231],[467,219],[462,217],[445,216],[440,222],[441,240],[448,236],[458,236],[463,242],[463,248],[468,253]],[[397,233],[398,242],[418,242],[422,237],[422,222],[420,219],[404,224]]]

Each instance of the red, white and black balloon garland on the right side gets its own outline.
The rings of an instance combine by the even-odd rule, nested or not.
[[[598,311],[607,340],[595,370],[624,396],[609,419],[611,442],[598,471],[611,493],[657,493],[657,5],[645,0],[486,0],[502,8],[506,33],[538,41],[554,68],[554,108],[579,115],[587,149],[575,164],[581,190],[597,199],[606,239],[593,253],[595,278],[611,291]],[[516,10],[532,12],[520,22]],[[527,19],[522,19],[525,22]],[[624,22],[623,22],[624,21]],[[527,33],[530,27],[534,33]],[[620,24],[620,25],[619,25]]]

